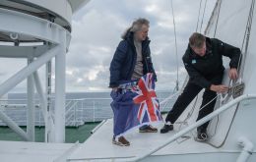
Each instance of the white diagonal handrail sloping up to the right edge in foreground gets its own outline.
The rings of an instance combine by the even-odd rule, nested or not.
[[[161,148],[163,148],[167,144],[171,143],[172,141],[176,140],[180,136],[186,135],[187,133],[191,132],[192,130],[196,129],[197,127],[199,127],[199,126],[203,125],[204,123],[212,120],[213,118],[215,118],[219,114],[223,113],[225,110],[229,109],[231,106],[237,104],[238,102],[243,101],[243,100],[253,99],[253,98],[256,98],[256,94],[243,94],[243,95],[233,99],[232,101],[226,103],[224,106],[220,107],[219,109],[217,109],[213,113],[207,115],[206,117],[202,118],[201,120],[197,121],[196,123],[192,124],[191,126],[185,128],[184,130],[181,130],[177,134],[169,137],[164,143],[161,143],[157,147],[141,154],[140,156],[131,158],[129,160],[126,159],[126,161],[140,161],[140,160],[144,159],[145,157],[148,157],[149,155],[152,155],[153,153],[157,152],[158,150],[160,150]]]

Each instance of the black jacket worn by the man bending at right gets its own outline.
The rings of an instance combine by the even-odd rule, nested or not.
[[[241,51],[219,39],[209,37],[206,37],[206,48],[205,56],[201,57],[188,45],[182,60],[190,81],[209,89],[212,79],[224,74],[223,56],[230,58],[230,68],[237,68]]]

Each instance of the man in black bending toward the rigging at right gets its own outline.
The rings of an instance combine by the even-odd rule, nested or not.
[[[197,121],[214,111],[217,92],[223,93],[228,90],[228,87],[222,84],[224,77],[223,56],[230,58],[228,75],[231,80],[236,80],[240,53],[239,48],[219,39],[209,38],[198,32],[194,32],[190,36],[188,48],[182,57],[189,81],[174,103],[173,108],[168,112],[165,125],[160,130],[161,134],[173,130],[174,122],[203,88],[205,91],[201,108],[205,107],[199,111]],[[208,125],[209,122],[197,128],[198,140],[208,138]]]

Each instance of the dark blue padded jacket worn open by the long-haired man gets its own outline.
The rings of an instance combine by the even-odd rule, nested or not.
[[[137,52],[133,42],[133,35],[133,32],[127,32],[125,38],[120,41],[116,48],[109,68],[109,87],[117,87],[121,81],[130,81],[132,78],[137,59]],[[151,59],[149,38],[142,42],[142,57],[143,74],[145,75],[147,73],[154,73],[155,80],[157,80]]]

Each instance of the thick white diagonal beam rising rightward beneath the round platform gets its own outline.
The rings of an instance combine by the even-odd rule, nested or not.
[[[57,47],[50,49],[48,52],[46,52],[45,54],[41,55],[36,60],[34,60],[32,64],[30,64],[29,66],[25,67],[24,69],[16,73],[13,77],[8,79],[7,81],[4,81],[0,85],[0,96],[4,95],[7,91],[12,89],[18,83],[28,78],[40,66],[42,66],[47,61],[49,61],[52,57],[54,57],[57,54],[57,52],[58,52]]]

